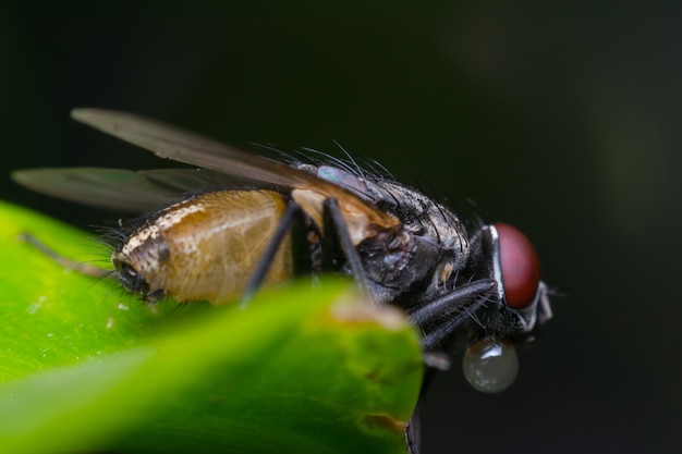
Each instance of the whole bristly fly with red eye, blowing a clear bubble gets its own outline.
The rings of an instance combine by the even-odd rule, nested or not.
[[[352,275],[374,302],[410,315],[428,365],[448,364],[436,354],[446,343],[466,346],[465,376],[485,392],[513,381],[510,342],[551,318],[533,245],[509,224],[468,234],[446,206],[354,162],[273,160],[115,111],[72,116],[199,168],[13,173],[32,189],[86,205],[135,213],[166,205],[122,223],[111,255],[121,285],[143,300],[221,305],[295,275]],[[500,361],[511,366],[491,368]],[[418,451],[415,420],[411,452]]]

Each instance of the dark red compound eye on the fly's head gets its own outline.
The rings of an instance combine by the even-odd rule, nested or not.
[[[533,303],[540,282],[540,267],[531,241],[516,228],[495,224],[500,241],[502,283],[507,305],[523,309]]]

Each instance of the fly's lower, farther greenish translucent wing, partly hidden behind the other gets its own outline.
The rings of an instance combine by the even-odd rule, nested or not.
[[[231,183],[205,169],[28,169],[13,172],[12,179],[53,197],[134,213],[168,205],[184,193]]]

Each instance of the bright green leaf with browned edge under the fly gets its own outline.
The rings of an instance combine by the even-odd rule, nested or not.
[[[405,452],[422,363],[397,309],[334,280],[148,306],[20,237],[106,259],[84,233],[2,203],[0,220],[2,453]]]

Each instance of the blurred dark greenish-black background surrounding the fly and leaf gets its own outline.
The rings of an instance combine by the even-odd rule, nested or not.
[[[550,3],[60,3],[59,16],[5,3],[0,195],[100,224],[115,214],[32,194],[9,171],[163,164],[71,121],[73,107],[240,146],[336,154],[336,139],[525,231],[567,295],[511,390],[477,393],[459,368],[435,380],[425,454],[682,452],[682,7]]]

